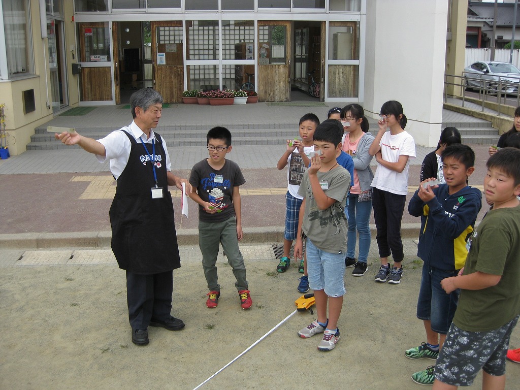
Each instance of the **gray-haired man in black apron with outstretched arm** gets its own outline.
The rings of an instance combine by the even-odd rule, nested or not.
[[[161,118],[162,96],[152,88],[130,98],[133,122],[95,140],[77,132],[55,134],[66,145],[79,145],[100,162],[110,160],[117,181],[110,207],[112,251],[126,270],[128,318],[132,342],[148,344],[148,326],[184,328],[171,315],[173,270],[180,267],[173,203],[168,185],[186,183],[170,172],[166,142],[152,131]]]

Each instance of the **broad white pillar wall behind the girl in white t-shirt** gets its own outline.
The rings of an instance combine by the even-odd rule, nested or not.
[[[406,130],[428,147],[441,131],[447,12],[447,0],[367,2],[364,108],[375,118],[398,100]]]

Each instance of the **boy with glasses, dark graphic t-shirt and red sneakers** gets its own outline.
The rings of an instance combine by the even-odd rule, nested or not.
[[[240,167],[226,154],[231,151],[231,133],[225,127],[213,127],[206,136],[210,157],[191,168],[189,193],[191,199],[199,203],[199,247],[202,252],[202,267],[207,281],[208,298],[206,306],[215,308],[220,297],[217,267],[219,243],[226,254],[233,275],[237,279],[235,287],[243,309],[252,305],[248,281],[245,278],[244,258],[238,242],[242,239],[242,214],[239,186],[245,183]]]

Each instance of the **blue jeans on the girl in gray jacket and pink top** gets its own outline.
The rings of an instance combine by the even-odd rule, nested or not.
[[[372,202],[358,202],[359,194],[348,195],[348,232],[347,232],[347,257],[356,257],[356,230],[359,231],[359,256],[358,261],[366,263],[370,250],[370,213]]]

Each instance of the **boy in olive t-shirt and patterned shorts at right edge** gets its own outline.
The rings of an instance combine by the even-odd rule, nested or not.
[[[486,166],[484,194],[493,209],[469,241],[459,276],[459,305],[435,365],[434,390],[470,386],[483,369],[483,390],[505,388],[505,355],[520,315],[520,150],[504,148]]]

